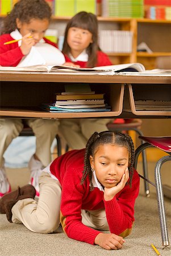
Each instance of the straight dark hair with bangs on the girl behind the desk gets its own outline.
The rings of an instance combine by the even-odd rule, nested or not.
[[[86,11],[81,11],[73,16],[72,19],[69,20],[64,36],[64,45],[62,48],[62,52],[68,54],[70,52],[70,47],[67,43],[68,30],[70,27],[79,27],[84,30],[88,30],[93,35],[93,43],[87,47],[86,52],[89,56],[87,61],[87,68],[92,68],[97,64],[97,51],[98,47],[98,21],[97,17],[92,13],[86,13]]]

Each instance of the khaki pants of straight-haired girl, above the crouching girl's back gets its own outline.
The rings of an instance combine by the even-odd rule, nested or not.
[[[87,140],[95,131],[106,131],[107,123],[112,121],[109,118],[61,119],[59,130],[70,148],[81,149],[85,148]]]

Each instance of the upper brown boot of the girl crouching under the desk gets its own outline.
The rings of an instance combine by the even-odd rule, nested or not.
[[[22,199],[26,199],[26,198],[34,199],[35,194],[36,194],[36,190],[35,190],[34,186],[32,186],[30,184],[25,185],[21,188],[18,187],[18,189],[16,189],[16,191],[5,194],[0,199],[0,213],[6,213],[5,204],[7,202],[15,201],[15,203],[16,203],[18,200],[22,200]]]

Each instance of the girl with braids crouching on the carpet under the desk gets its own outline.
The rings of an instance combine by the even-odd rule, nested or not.
[[[66,152],[43,170],[38,203],[35,188],[26,185],[1,198],[0,213],[32,232],[52,233],[61,223],[74,240],[121,249],[134,224],[139,193],[133,164],[130,136],[94,133],[86,148]],[[54,235],[57,239],[58,233]]]

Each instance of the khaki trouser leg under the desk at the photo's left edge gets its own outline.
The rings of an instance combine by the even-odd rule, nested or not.
[[[12,142],[18,137],[23,129],[21,119],[1,119],[0,118],[0,168],[3,166],[3,154]]]

